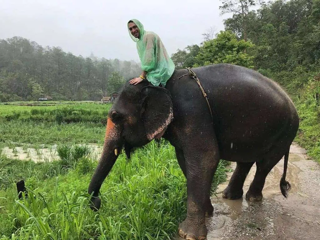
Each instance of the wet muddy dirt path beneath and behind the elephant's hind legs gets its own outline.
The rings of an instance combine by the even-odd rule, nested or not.
[[[244,183],[244,196],[239,200],[226,200],[221,192],[228,181],[220,184],[212,197],[213,217],[207,219],[208,240],[224,239],[320,239],[320,167],[308,160],[297,144],[290,148],[286,179],[291,184],[287,199],[281,195],[279,181],[283,173],[282,159],[269,173],[263,200],[250,203],[245,200],[255,174],[252,166]],[[236,164],[232,164],[235,169]],[[233,172],[228,174],[228,179]]]

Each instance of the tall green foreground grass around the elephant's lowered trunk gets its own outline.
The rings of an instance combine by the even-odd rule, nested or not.
[[[0,239],[172,239],[176,236],[178,224],[186,217],[186,180],[170,144],[162,142],[157,146],[151,142],[137,149],[130,160],[122,153],[100,189],[98,212],[88,207],[87,188],[97,165],[88,153],[86,148],[60,145],[60,159],[71,161],[64,174],[44,174],[46,165],[62,168],[65,164],[62,161],[20,163],[24,165],[24,174],[19,177],[25,179],[28,198],[18,200],[13,181],[9,181],[5,190],[1,188]],[[3,161],[9,161],[2,164],[4,172],[18,164],[13,160]],[[226,165],[220,162],[212,190],[225,180]],[[15,174],[11,178],[19,179]]]

